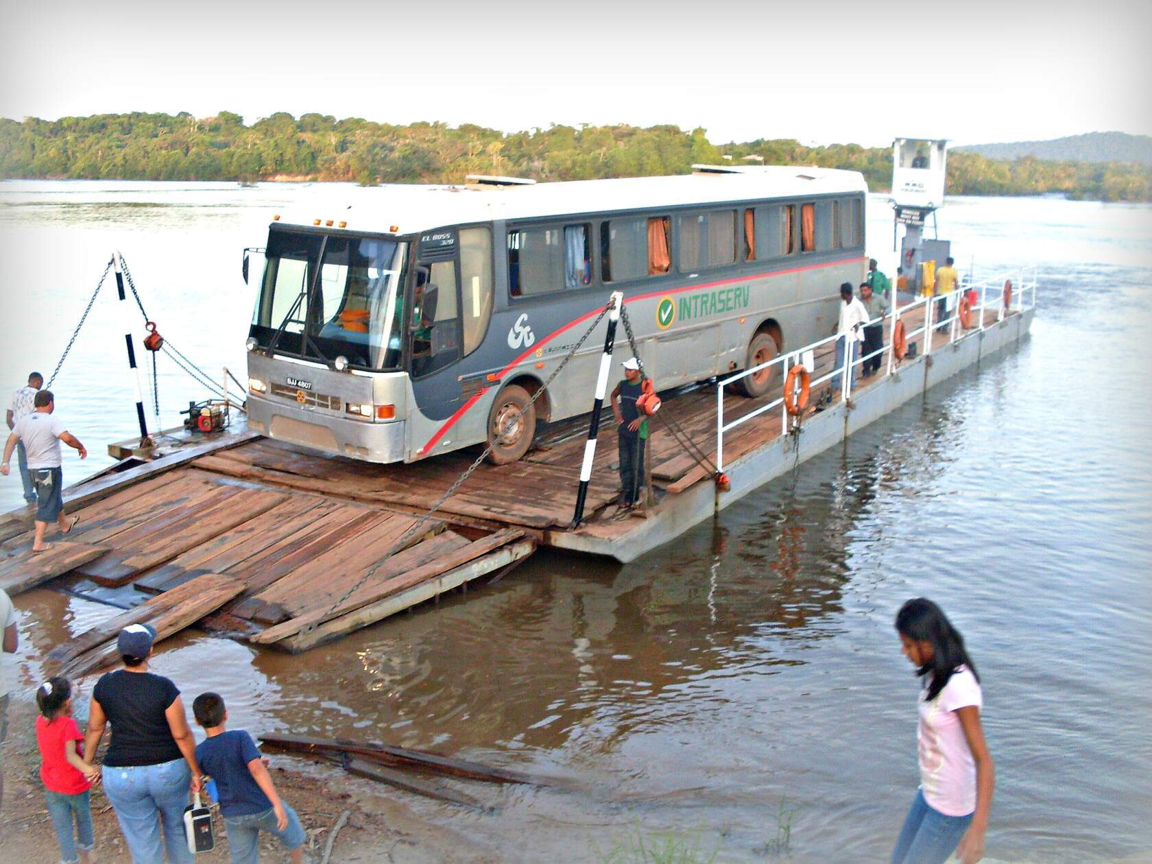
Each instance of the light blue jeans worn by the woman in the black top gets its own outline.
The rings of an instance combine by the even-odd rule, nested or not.
[[[184,838],[184,808],[192,772],[183,759],[159,765],[100,768],[104,794],[116,811],[132,864],[161,864],[168,852],[169,864],[191,864]],[[160,824],[164,824],[164,843]]]

